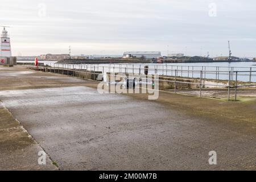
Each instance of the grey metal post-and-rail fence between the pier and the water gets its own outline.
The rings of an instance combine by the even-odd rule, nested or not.
[[[159,68],[160,66],[160,68]],[[170,68],[171,67],[171,68]],[[135,78],[141,78],[141,75],[144,73],[144,65],[141,64],[106,64],[106,65],[99,65],[99,64],[68,64],[68,63],[47,63],[43,66],[36,68],[34,65],[27,65],[27,68],[32,69],[40,69],[45,70],[46,68],[53,69],[54,73],[62,73],[64,71],[72,71],[74,72],[84,72],[84,73],[91,73],[91,74],[98,74],[97,72],[102,72],[102,75],[105,76],[106,80],[106,73],[110,73],[109,76],[118,77],[115,73],[130,73],[133,74]],[[170,80],[163,80],[158,79],[157,81],[163,82],[174,82],[174,93],[177,90],[177,83],[180,84],[191,84],[199,86],[200,97],[202,97],[202,90],[205,86],[213,86],[218,88],[227,88],[228,89],[228,101],[230,101],[230,91],[234,89],[234,101],[237,101],[237,89],[238,88],[250,88],[256,86],[256,68],[255,67],[243,67],[245,70],[249,69],[249,71],[236,71],[236,67],[191,67],[187,66],[187,69],[184,69],[184,66],[179,67],[179,65],[168,65],[164,67],[163,64],[156,64],[152,68],[148,69],[148,74],[154,75],[163,75],[163,76],[170,76]],[[211,70],[215,69],[215,70]],[[228,69],[224,71],[224,69]],[[69,75],[69,74],[68,74]],[[209,77],[209,75],[211,78]],[[73,75],[74,76],[74,75]],[[222,79],[220,78],[222,76]],[[225,76],[225,77],[223,77]],[[124,77],[124,76],[119,76]],[[239,80],[241,77],[247,77],[247,81],[243,79]],[[94,77],[95,78],[95,77]],[[186,81],[177,81],[177,78],[197,78],[200,79],[200,82],[186,82]],[[207,79],[213,80],[226,80],[228,81],[227,85],[219,85],[219,84],[205,84],[203,82]],[[253,82],[255,80],[255,82]],[[238,81],[243,81],[243,84],[238,85]]]

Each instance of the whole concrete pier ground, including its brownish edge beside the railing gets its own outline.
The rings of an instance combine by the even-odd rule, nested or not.
[[[1,118],[6,117],[0,119],[0,153],[6,154],[0,169],[256,170],[255,100],[160,92],[158,100],[149,101],[146,94],[100,94],[97,84],[0,67]],[[2,129],[14,118],[24,127],[17,132],[30,138],[16,148],[24,138],[13,130],[3,135]],[[37,160],[42,149],[43,167]],[[209,165],[209,151],[217,152],[217,165]]]

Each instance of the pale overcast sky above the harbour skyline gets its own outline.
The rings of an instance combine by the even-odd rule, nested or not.
[[[13,55],[112,54],[161,51],[162,55],[256,56],[253,0],[8,0],[0,24]],[[187,50],[187,51],[186,51]]]

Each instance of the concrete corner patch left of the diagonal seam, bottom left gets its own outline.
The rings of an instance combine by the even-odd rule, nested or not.
[[[0,170],[57,170],[46,155],[46,164],[38,164],[43,148],[0,103]]]

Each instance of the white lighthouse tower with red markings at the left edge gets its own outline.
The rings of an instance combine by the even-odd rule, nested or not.
[[[3,26],[1,34],[0,64],[9,64],[11,62],[11,44],[6,27]]]

